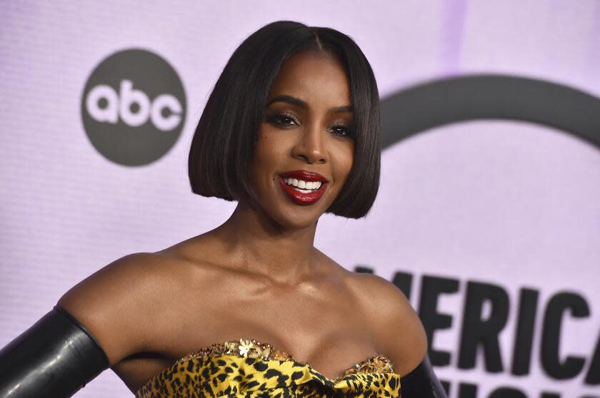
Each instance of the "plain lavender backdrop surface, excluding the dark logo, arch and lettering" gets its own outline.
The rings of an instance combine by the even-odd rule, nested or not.
[[[279,19],[331,26],[352,36],[374,68],[381,97],[423,81],[505,73],[600,96],[599,1],[5,1],[0,4],[0,347],[49,311],[79,280],[130,252],[153,252],[219,225],[234,204],[190,192],[189,143],[204,102],[232,51]],[[91,146],[81,93],[115,51],[144,48],[174,67],[187,113],[179,140],[146,166],[126,167]],[[426,110],[424,110],[426,111]],[[434,335],[451,353],[436,367],[458,397],[500,386],[528,397],[600,396],[585,384],[600,335],[600,150],[531,123],[472,121],[431,129],[383,154],[381,191],[365,220],[325,216],[316,245],[345,267],[384,277],[459,280]],[[360,242],[357,245],[356,242]],[[510,297],[501,332],[504,371],[459,369],[466,282]],[[510,374],[518,295],[539,290],[531,372]],[[571,291],[591,314],[564,315],[561,358],[586,358],[563,381],[541,368],[541,317],[549,297]],[[486,310],[486,308],[484,308]],[[485,312],[485,311],[484,311]],[[111,371],[77,397],[129,397]]]

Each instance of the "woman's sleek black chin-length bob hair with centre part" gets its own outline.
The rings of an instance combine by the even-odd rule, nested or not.
[[[375,76],[359,46],[329,28],[277,21],[251,34],[234,51],[209,96],[188,159],[193,193],[225,200],[256,200],[249,170],[267,96],[284,61],[296,51],[327,51],[339,58],[354,108],[354,162],[326,213],[362,218],[379,190],[381,138]]]

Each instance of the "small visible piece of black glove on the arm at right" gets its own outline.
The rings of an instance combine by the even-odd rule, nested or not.
[[[446,398],[446,391],[431,367],[429,355],[409,374],[401,377],[400,392],[402,398]]]

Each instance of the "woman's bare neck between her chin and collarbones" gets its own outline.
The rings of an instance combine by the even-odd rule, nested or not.
[[[242,270],[294,285],[316,265],[316,223],[289,229],[247,203],[238,203],[231,217],[214,231],[226,244],[228,257]]]

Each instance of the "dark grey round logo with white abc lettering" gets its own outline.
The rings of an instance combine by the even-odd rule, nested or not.
[[[185,117],[184,86],[175,69],[141,49],[119,51],[101,61],[81,97],[89,140],[121,165],[161,158],[179,138]]]

